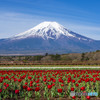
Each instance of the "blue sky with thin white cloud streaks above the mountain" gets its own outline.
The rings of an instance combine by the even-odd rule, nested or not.
[[[100,40],[100,0],[0,0],[0,38],[24,32],[43,21]]]

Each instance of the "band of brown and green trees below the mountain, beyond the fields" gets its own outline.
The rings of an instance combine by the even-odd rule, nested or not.
[[[100,64],[100,50],[69,54],[45,53],[37,56],[0,56],[0,63]]]

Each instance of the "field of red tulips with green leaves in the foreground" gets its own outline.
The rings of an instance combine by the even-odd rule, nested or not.
[[[71,96],[96,92],[97,96]],[[0,100],[100,100],[100,69],[0,70]]]

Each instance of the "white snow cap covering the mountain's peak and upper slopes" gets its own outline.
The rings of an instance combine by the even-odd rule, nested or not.
[[[42,22],[28,31],[15,35],[13,39],[22,39],[27,37],[42,37],[43,39],[58,39],[60,35],[75,37],[69,31],[57,22]]]

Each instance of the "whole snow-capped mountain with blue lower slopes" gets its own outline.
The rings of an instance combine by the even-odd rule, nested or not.
[[[100,41],[68,30],[57,22],[39,25],[10,38],[0,39],[0,54],[72,53],[100,49]]]

